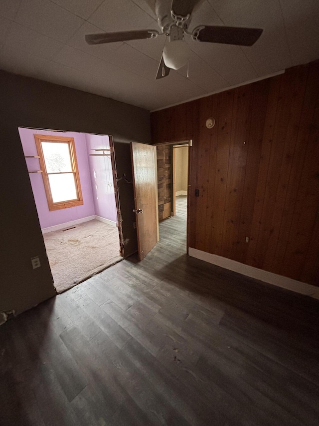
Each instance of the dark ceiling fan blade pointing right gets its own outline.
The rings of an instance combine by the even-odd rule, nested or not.
[[[193,30],[192,38],[195,41],[207,41],[209,43],[252,46],[262,32],[263,30],[260,28],[200,25]]]

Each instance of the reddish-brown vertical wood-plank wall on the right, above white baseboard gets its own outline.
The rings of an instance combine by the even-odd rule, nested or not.
[[[193,139],[190,247],[319,285],[318,61],[151,122],[153,143]]]

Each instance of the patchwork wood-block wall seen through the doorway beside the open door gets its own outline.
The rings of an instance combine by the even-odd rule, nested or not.
[[[159,220],[166,219],[171,213],[171,146],[157,147]]]

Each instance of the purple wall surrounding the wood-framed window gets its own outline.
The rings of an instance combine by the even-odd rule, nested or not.
[[[61,223],[94,216],[94,203],[90,179],[90,168],[86,146],[85,133],[76,132],[52,132],[49,130],[25,129],[19,127],[20,139],[24,155],[37,155],[34,134],[45,134],[50,136],[70,136],[74,138],[76,158],[78,162],[83,205],[69,207],[67,209],[50,212],[44,190],[41,173],[29,173],[33,190],[35,205],[37,208],[41,229],[48,228]],[[39,170],[38,158],[26,158],[28,170]],[[114,200],[115,203],[115,200]]]

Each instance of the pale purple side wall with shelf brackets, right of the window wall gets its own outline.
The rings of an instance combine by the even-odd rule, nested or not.
[[[98,154],[94,149],[110,148],[108,136],[86,134],[88,154]],[[113,172],[110,157],[89,156],[95,214],[117,222]]]

